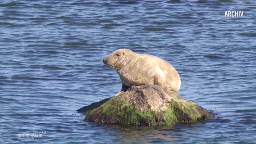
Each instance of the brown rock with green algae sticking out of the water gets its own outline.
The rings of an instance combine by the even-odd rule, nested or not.
[[[165,93],[158,85],[132,86],[123,94],[78,109],[85,121],[100,124],[159,126],[209,120],[214,113]]]

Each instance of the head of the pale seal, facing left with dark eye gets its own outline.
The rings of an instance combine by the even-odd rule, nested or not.
[[[132,59],[133,51],[130,49],[118,49],[103,59],[103,63],[119,70],[127,65]]]

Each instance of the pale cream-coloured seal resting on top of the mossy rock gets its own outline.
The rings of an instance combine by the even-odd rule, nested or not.
[[[122,81],[122,94],[133,85],[159,85],[165,92],[177,92],[181,81],[175,68],[162,58],[137,54],[130,49],[118,49],[103,59],[114,68]]]

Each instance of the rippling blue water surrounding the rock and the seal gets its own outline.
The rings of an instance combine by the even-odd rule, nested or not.
[[[255,26],[253,0],[1,0],[0,143],[254,144]],[[120,90],[102,63],[120,47],[172,63],[178,93],[216,117],[157,127],[82,121],[76,109]]]

